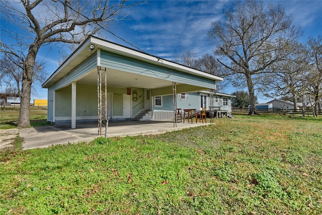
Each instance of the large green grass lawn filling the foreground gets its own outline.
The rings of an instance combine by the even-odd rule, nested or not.
[[[0,214],[322,214],[321,117],[238,116],[0,161]]]

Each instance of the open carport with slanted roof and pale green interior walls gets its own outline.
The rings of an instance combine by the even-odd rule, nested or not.
[[[151,119],[155,119],[155,98],[216,89],[216,82],[222,80],[90,36],[42,87],[48,89],[47,120],[70,123],[71,128],[75,128],[78,122],[98,121],[100,115],[122,120],[134,119],[144,112],[152,114]]]

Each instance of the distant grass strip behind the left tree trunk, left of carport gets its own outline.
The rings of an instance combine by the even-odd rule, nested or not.
[[[16,128],[18,119],[19,108],[0,110],[0,129]],[[50,122],[47,122],[47,108],[31,107],[30,124],[31,126],[50,125]]]

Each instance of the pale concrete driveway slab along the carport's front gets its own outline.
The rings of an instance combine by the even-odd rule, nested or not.
[[[109,122],[107,137],[159,134],[200,125],[205,124],[180,122],[173,127],[172,121],[114,121]],[[19,129],[19,135],[23,138],[23,150],[90,142],[99,137],[97,123],[76,124],[76,129],[71,129],[70,124],[23,128]]]

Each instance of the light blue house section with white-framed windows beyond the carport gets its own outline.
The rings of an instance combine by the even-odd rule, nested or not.
[[[184,109],[196,109],[200,112],[203,107],[210,110],[210,106],[214,109],[220,109],[221,111],[227,111],[231,114],[231,98],[232,95],[224,93],[214,93],[213,104],[210,104],[210,92],[200,91],[191,93],[181,93],[177,95],[177,108]],[[156,100],[157,99],[157,100]],[[160,100],[160,101],[159,101]],[[172,119],[173,115],[173,97],[172,95],[159,96],[153,98],[153,119],[164,120]]]

